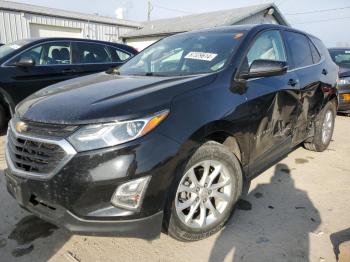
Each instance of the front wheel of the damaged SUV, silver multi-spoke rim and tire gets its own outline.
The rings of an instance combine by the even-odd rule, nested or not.
[[[200,146],[177,176],[166,210],[168,234],[196,241],[219,231],[241,196],[243,176],[238,159],[225,146]]]

